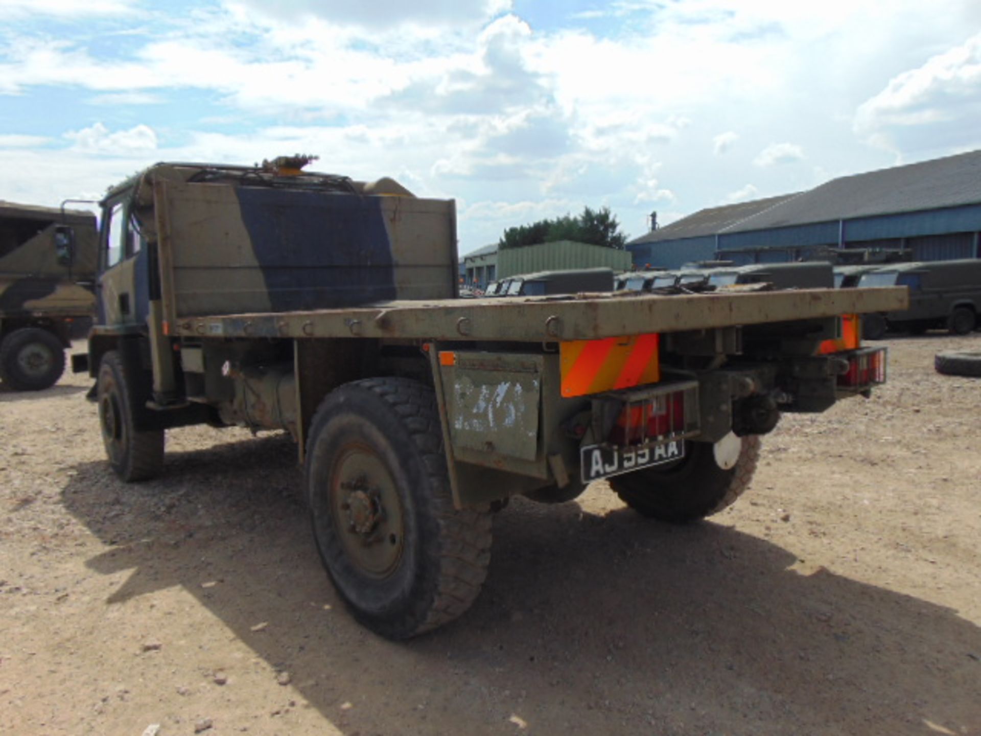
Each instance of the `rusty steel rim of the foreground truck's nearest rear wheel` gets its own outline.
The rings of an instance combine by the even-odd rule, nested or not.
[[[382,458],[366,445],[351,444],[336,456],[329,503],[336,537],[361,574],[385,579],[405,549],[402,502]]]

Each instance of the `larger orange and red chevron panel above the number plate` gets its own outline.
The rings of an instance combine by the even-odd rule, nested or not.
[[[657,335],[559,343],[562,395],[631,389],[660,380]]]

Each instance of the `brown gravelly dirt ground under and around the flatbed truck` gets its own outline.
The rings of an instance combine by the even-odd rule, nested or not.
[[[284,439],[173,431],[125,486],[87,379],[0,394],[0,733],[981,734],[981,380],[932,363],[981,335],[888,344],[709,522],[518,499],[402,645],[339,605]]]

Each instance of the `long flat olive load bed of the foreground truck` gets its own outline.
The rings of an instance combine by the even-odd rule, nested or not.
[[[905,288],[387,301],[313,311],[178,317],[174,337],[601,340],[903,309]]]

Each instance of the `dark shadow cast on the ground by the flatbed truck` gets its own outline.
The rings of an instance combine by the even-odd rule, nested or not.
[[[495,519],[476,605],[393,644],[337,600],[287,441],[171,454],[139,486],[101,462],[76,470],[64,503],[112,546],[87,564],[130,571],[107,605],[182,586],[351,736],[981,732],[981,629],[801,574],[792,552],[719,524],[518,499]]]

